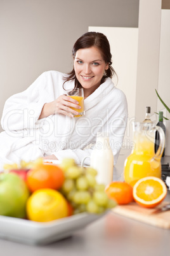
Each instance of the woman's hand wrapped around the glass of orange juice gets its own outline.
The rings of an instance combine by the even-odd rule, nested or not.
[[[81,109],[78,101],[63,94],[55,99],[55,101],[44,104],[39,119],[53,114],[68,115],[69,117],[74,117],[74,115],[79,114],[79,112],[72,110],[70,107],[77,108],[78,110]]]

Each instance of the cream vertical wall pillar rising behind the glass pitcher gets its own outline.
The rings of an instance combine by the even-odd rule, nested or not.
[[[140,0],[136,121],[141,121],[146,106],[151,106],[152,114],[157,110],[161,4],[162,0]]]

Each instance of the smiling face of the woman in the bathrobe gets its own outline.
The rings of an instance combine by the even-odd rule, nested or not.
[[[95,46],[77,50],[74,70],[77,80],[84,88],[85,98],[100,86],[101,78],[107,69],[108,64],[103,59],[100,50]]]

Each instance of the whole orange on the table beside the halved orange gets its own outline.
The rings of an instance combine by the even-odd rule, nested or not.
[[[117,201],[117,204],[133,201],[133,187],[126,182],[113,181],[105,188],[105,192],[110,199]]]

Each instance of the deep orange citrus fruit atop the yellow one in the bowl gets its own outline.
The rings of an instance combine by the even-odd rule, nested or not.
[[[27,185],[31,192],[40,188],[59,189],[63,185],[64,173],[52,164],[37,164],[27,173]]]

